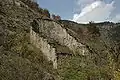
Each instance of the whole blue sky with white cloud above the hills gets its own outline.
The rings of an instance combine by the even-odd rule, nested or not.
[[[37,0],[42,8],[78,23],[120,22],[120,0]]]

